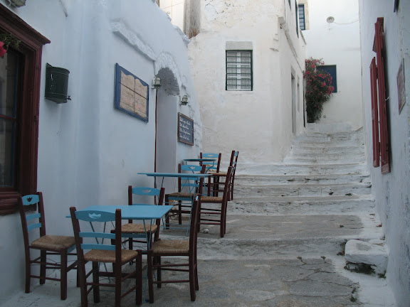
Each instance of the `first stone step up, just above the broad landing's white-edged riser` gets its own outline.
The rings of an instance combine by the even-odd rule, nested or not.
[[[371,183],[339,183],[333,185],[236,185],[235,195],[238,198],[247,195],[260,197],[284,196],[327,196],[370,194]]]

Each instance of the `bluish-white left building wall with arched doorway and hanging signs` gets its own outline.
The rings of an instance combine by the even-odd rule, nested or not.
[[[115,109],[115,63],[149,85],[155,75],[162,78],[159,168],[176,171],[182,158],[199,156],[202,129],[187,60],[189,41],[153,0],[63,4],[67,16],[60,1],[27,1],[11,10],[51,40],[43,47],[38,190],[44,196],[47,232],[70,235],[65,218],[70,206],[126,204],[127,185],[153,185],[152,178],[137,173],[154,171],[156,90],[149,89],[147,123]],[[70,70],[68,103],[43,99],[46,63]],[[189,105],[179,106],[182,95]],[[194,119],[194,146],[177,142],[178,112]],[[0,225],[0,298],[5,300],[23,289],[24,254],[19,215],[1,216]]]

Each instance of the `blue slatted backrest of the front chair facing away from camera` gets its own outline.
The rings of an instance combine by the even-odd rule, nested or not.
[[[84,250],[86,249],[100,249],[112,251],[115,250],[115,258],[121,259],[121,210],[115,210],[115,213],[99,211],[99,210],[81,210],[77,211],[75,207],[70,208],[71,221],[73,222],[73,231],[75,237],[75,247],[77,249],[78,259],[84,262]],[[113,222],[115,221],[115,232],[105,230],[106,227],[92,226],[92,231],[81,231],[80,222]],[[117,227],[118,225],[118,227]],[[96,231],[103,229],[102,231]],[[107,227],[108,228],[108,227]],[[107,239],[105,244],[104,239]],[[115,244],[111,244],[115,240]],[[116,263],[121,263],[117,262]]]

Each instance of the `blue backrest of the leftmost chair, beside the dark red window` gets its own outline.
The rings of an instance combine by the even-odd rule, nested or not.
[[[36,194],[24,195],[19,197],[19,210],[21,217],[21,226],[23,228],[24,246],[29,246],[29,235],[31,230],[38,228],[40,237],[46,235],[46,220],[44,218],[43,194],[37,192]],[[30,238],[36,239],[38,236]]]

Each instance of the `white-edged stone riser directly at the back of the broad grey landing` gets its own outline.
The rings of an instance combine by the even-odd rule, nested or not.
[[[236,198],[228,202],[233,215],[354,214],[374,209],[372,195],[284,198]]]

